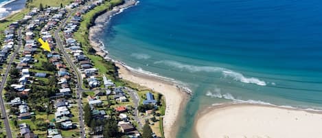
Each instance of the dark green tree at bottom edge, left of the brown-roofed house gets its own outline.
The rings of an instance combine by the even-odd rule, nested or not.
[[[119,129],[117,128],[117,121],[113,118],[109,119],[104,126],[104,137],[119,137]]]

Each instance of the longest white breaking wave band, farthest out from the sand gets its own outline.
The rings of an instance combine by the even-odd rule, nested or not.
[[[176,62],[172,60],[161,60],[161,61],[154,62],[154,64],[164,64],[170,67],[176,67],[178,69],[185,69],[190,72],[205,71],[205,72],[222,73],[224,77],[233,78],[233,80],[236,80],[236,81],[257,84],[260,86],[266,86],[266,82],[264,82],[264,80],[259,80],[258,78],[253,78],[253,77],[247,78],[242,73],[238,73],[222,67],[185,65],[185,64],[182,64],[181,62]]]

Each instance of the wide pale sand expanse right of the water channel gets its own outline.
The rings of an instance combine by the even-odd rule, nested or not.
[[[205,108],[195,130],[200,138],[322,137],[322,114],[277,106],[224,104]]]

